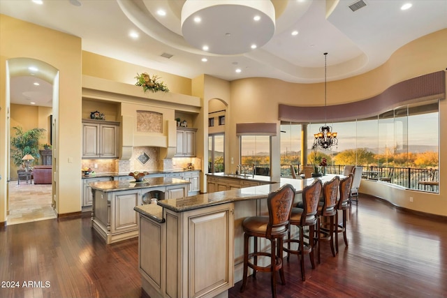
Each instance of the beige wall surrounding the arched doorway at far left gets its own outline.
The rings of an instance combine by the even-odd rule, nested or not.
[[[59,70],[59,91],[54,98],[53,116],[59,138],[54,144],[59,167],[55,169],[56,209],[68,214],[81,209],[81,40],[78,37],[0,15],[0,223],[6,221],[6,177],[8,137],[8,101],[6,61],[27,57],[45,61]],[[51,40],[51,42],[49,41]],[[54,46],[57,45],[57,46]],[[59,117],[59,114],[61,117]]]

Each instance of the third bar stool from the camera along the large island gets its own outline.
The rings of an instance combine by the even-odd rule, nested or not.
[[[335,206],[337,205],[339,182],[340,178],[335,176],[330,179],[330,181],[326,181],[325,184],[323,184],[323,202],[320,201],[318,204],[317,213],[318,230],[316,234],[318,235],[318,264],[320,264],[320,244],[322,240],[330,241],[330,251],[332,251],[332,256],[335,257],[334,234],[335,230],[337,230],[337,228],[334,227],[336,223],[335,216],[337,215]]]

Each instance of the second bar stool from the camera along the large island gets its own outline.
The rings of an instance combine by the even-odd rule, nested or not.
[[[294,207],[292,208],[290,225],[296,225],[300,230],[300,239],[292,239],[291,238],[291,230],[289,228],[287,233],[287,239],[284,240],[286,242],[287,247],[284,247],[284,251],[288,253],[287,261],[289,260],[289,255],[294,254],[298,255],[298,259],[300,259],[301,263],[301,277],[302,281],[306,280],[305,276],[305,253],[309,253],[310,262],[312,264],[312,268],[315,268],[314,262],[314,234],[315,234],[315,225],[317,224],[317,209],[318,203],[320,202],[321,189],[323,188],[323,184],[320,179],[314,179],[312,184],[309,186],[305,186],[302,189],[302,208]],[[305,246],[305,233],[304,228],[309,227],[309,236],[308,243]],[[306,237],[307,238],[307,237]],[[296,250],[291,248],[291,243],[297,243],[298,248]]]

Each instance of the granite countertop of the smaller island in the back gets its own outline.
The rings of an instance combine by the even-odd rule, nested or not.
[[[177,178],[154,177],[145,178],[143,182],[135,182],[129,180],[99,181],[91,183],[90,187],[97,191],[103,191],[107,193],[111,191],[129,191],[130,189],[152,188],[157,186],[170,186],[190,183],[190,181]]]

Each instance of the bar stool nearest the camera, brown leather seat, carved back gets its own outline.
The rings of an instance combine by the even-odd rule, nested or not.
[[[283,258],[283,238],[289,228],[289,219],[293,200],[295,199],[295,188],[286,184],[278,191],[272,192],[267,198],[268,216],[251,216],[242,221],[244,230],[244,276],[240,292],[244,292],[247,285],[248,267],[253,269],[253,278],[256,271],[271,272],[272,297],[276,297],[276,271],[279,271],[281,283],[286,284]],[[254,237],[254,252],[249,253],[249,238]],[[269,239],[271,243],[270,253],[258,251],[258,237]],[[258,265],[258,257],[270,257],[270,265],[265,267]],[[253,262],[249,259],[253,258]]]

